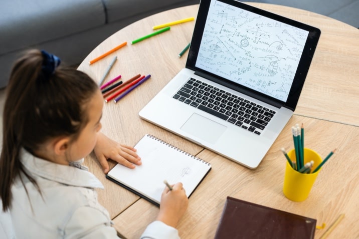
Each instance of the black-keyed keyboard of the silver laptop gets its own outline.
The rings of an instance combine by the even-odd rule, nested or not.
[[[258,135],[276,113],[195,78],[189,79],[173,98]]]

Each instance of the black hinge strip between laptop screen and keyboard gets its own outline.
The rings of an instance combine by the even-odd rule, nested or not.
[[[206,79],[209,79],[211,81],[214,81],[214,82],[216,82],[218,84],[221,84],[221,85],[223,85],[225,87],[228,87],[228,88],[231,88],[231,89],[236,90],[238,92],[241,92],[243,94],[246,94],[246,95],[248,95],[250,97],[253,97],[255,99],[258,99],[258,100],[261,100],[263,102],[266,102],[266,103],[268,103],[270,105],[273,105],[274,107],[277,107],[277,108],[281,108],[281,107],[289,108],[283,103],[277,102],[277,101],[275,101],[273,99],[269,99],[269,98],[264,97],[262,95],[258,95],[258,94],[254,93],[254,92],[252,92],[252,91],[250,91],[248,89],[242,88],[241,86],[239,86],[237,84],[226,82],[226,81],[224,81],[222,79],[218,79],[218,78],[216,78],[216,77],[214,77],[212,75],[209,75],[209,74],[203,73],[201,71],[197,71],[197,70],[195,71],[195,74],[199,75],[201,77],[204,77]],[[289,109],[294,111],[294,109],[291,109],[291,108],[289,108]]]

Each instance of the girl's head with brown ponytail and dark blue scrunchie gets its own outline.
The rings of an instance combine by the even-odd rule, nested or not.
[[[96,143],[96,132],[101,127],[101,92],[87,74],[58,65],[56,56],[30,50],[12,69],[0,157],[3,209],[10,206],[10,187],[15,177],[20,172],[29,177],[20,162],[21,148],[36,154],[52,143],[55,150],[69,147],[65,150],[66,160],[77,160]]]

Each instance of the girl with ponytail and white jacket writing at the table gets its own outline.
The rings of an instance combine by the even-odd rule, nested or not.
[[[82,165],[94,150],[139,165],[135,149],[103,135],[103,97],[85,73],[61,68],[60,59],[31,50],[14,65],[4,106],[0,196],[18,238],[117,238],[94,188],[101,182]],[[188,198],[182,183],[162,192],[157,220],[142,237],[178,238],[174,228]]]

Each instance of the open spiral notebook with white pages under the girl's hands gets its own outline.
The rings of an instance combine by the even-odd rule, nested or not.
[[[134,146],[142,164],[130,169],[116,164],[106,178],[120,184],[148,201],[159,205],[163,180],[182,182],[187,197],[211,170],[211,164],[161,139],[146,134]]]

